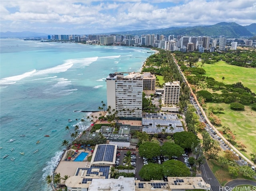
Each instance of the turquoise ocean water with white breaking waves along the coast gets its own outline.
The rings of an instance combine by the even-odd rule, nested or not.
[[[65,127],[74,132],[88,115],[74,110],[98,110],[106,103],[108,74],[140,71],[152,53],[23,39],[0,39],[0,46],[0,190],[48,191],[44,178],[58,164],[62,141],[69,140]],[[10,155],[3,159],[5,154]]]

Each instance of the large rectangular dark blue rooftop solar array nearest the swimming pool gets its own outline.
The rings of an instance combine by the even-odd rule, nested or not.
[[[114,145],[98,145],[94,162],[95,161],[108,161],[112,162],[114,158],[114,151],[115,146]]]

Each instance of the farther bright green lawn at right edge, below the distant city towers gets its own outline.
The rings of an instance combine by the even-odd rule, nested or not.
[[[202,65],[198,62],[197,65]],[[218,61],[214,64],[204,64],[203,69],[206,71],[206,76],[214,78],[218,82],[222,82],[222,77],[225,77],[224,84],[234,84],[241,82],[245,87],[251,89],[252,92],[256,93],[255,68],[246,68],[235,65],[229,65],[225,61]]]

